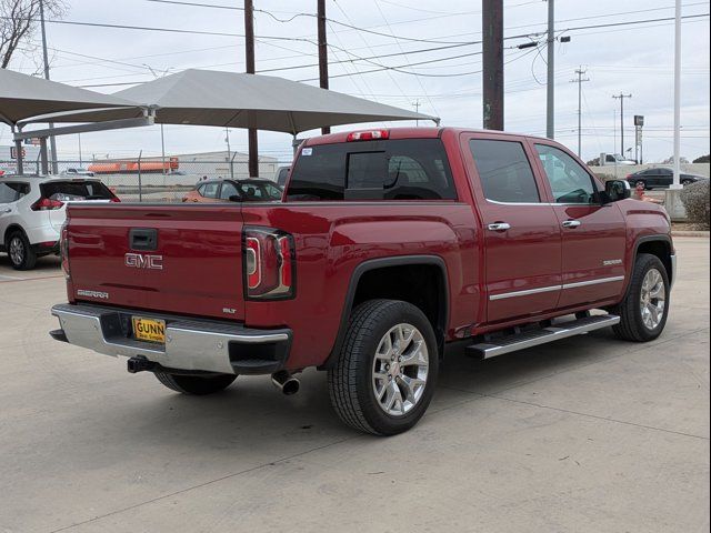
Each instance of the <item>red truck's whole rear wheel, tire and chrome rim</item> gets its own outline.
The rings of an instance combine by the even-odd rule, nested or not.
[[[397,300],[367,301],[353,310],[329,371],[331,404],[357,430],[402,433],[427,411],[438,363],[434,332],[420,309]]]

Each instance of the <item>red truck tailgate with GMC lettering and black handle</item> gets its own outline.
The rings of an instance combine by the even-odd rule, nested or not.
[[[71,204],[70,301],[244,319],[239,204]]]

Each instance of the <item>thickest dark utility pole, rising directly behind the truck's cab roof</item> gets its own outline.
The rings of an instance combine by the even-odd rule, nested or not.
[[[483,127],[503,130],[503,0],[482,1],[481,26]]]

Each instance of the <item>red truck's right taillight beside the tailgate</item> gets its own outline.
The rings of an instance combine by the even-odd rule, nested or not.
[[[244,294],[276,300],[294,295],[293,238],[269,228],[244,228]]]

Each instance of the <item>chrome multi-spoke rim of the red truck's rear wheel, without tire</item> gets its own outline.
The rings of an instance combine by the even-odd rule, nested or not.
[[[427,386],[429,353],[420,330],[398,324],[380,340],[373,359],[373,393],[380,409],[403,416],[414,408]]]

